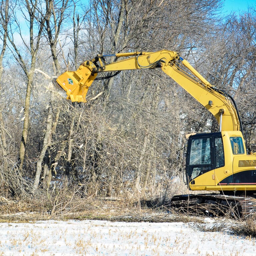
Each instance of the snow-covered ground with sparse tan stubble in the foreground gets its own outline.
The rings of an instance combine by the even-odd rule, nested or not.
[[[0,255],[252,256],[256,241],[180,222],[51,220],[0,223]]]

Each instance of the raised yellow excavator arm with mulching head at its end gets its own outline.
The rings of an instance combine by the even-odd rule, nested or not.
[[[105,58],[109,56],[126,58],[107,64]],[[155,68],[161,68],[164,73],[208,109],[217,119],[220,131],[240,130],[241,120],[232,97],[212,86],[177,52],[162,50],[97,55],[94,59],[82,63],[78,70],[63,73],[56,81],[66,91],[67,99],[72,102],[86,102],[87,91],[98,73]]]

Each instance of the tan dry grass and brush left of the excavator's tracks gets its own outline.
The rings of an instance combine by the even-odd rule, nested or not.
[[[178,184],[170,187],[168,193],[174,193]],[[144,207],[140,203],[141,194],[129,191],[118,198],[82,197],[79,189],[72,191],[41,191],[34,197],[5,200],[0,204],[0,221],[36,221],[94,219],[125,222],[191,222],[193,217],[170,214],[164,206],[159,208]],[[156,193],[156,192],[155,192]],[[157,194],[160,194],[160,190]],[[163,193],[163,191],[162,191]],[[151,194],[151,193],[149,193]],[[149,197],[150,195],[143,194]],[[156,194],[155,194],[156,195]]]

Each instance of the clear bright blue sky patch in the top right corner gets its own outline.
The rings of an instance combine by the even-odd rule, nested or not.
[[[239,13],[239,11],[247,11],[248,6],[256,8],[256,0],[225,0],[223,12],[227,12],[227,14],[232,11]]]

